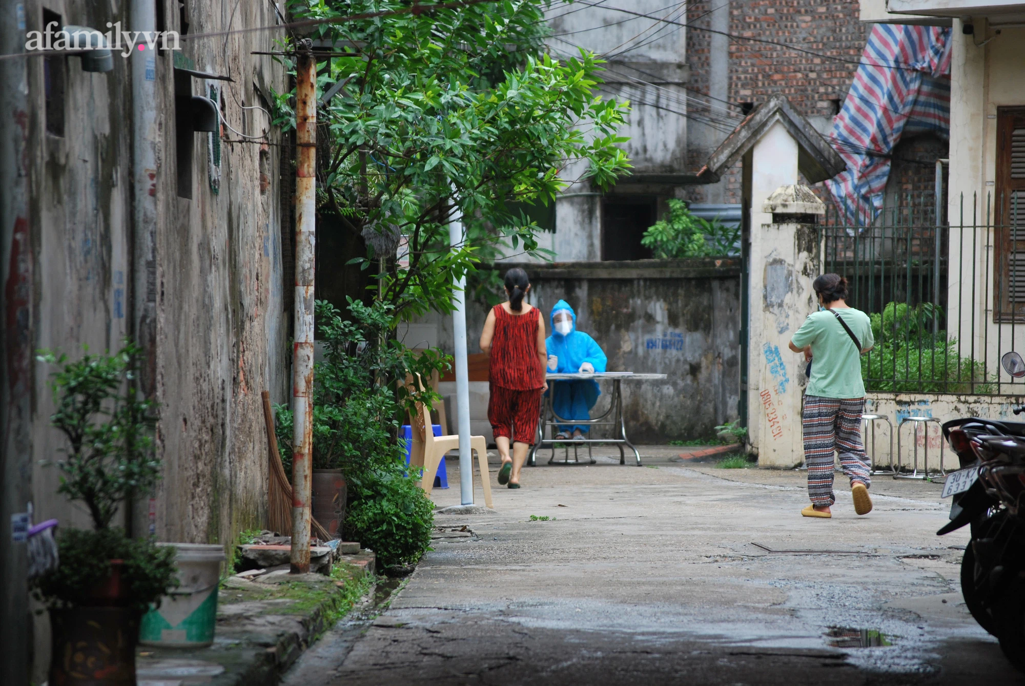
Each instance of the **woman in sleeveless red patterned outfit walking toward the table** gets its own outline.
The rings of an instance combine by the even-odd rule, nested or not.
[[[523,302],[528,291],[526,271],[519,267],[506,271],[508,300],[492,308],[481,333],[481,350],[490,357],[488,421],[502,459],[498,483],[507,483],[509,488],[520,487],[520,469],[537,432],[541,393],[548,389],[544,321],[540,310]]]

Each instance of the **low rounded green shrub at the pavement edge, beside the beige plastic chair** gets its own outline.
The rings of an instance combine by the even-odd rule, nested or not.
[[[434,503],[404,473],[405,460],[367,470],[348,484],[344,528],[383,566],[417,562],[430,545]]]

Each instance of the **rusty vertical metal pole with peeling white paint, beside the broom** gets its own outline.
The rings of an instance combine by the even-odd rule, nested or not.
[[[317,61],[309,39],[295,68],[295,342],[292,346],[293,574],[310,571],[314,421],[314,271],[317,192]]]

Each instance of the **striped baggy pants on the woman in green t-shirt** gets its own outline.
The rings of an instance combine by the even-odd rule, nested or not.
[[[818,506],[830,506],[834,453],[839,453],[844,474],[855,482],[871,485],[865,448],[861,444],[861,413],[865,398],[824,398],[805,396],[802,428],[805,434],[805,462],[808,465],[808,496]]]

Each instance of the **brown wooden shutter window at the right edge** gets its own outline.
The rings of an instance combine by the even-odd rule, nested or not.
[[[993,270],[997,321],[1025,320],[1025,108],[996,110],[996,265]]]

